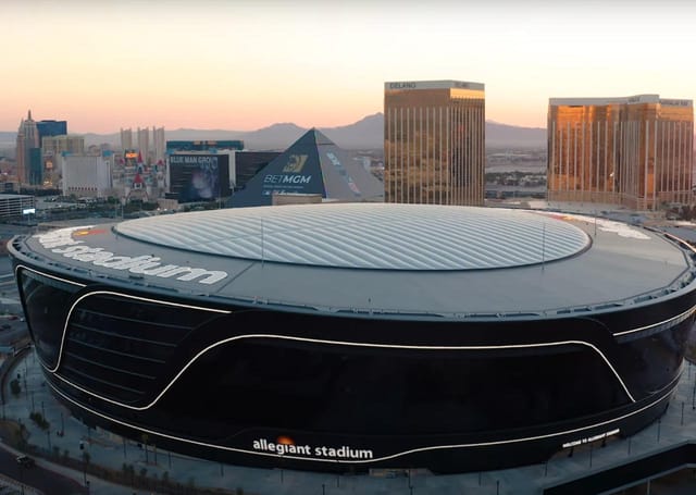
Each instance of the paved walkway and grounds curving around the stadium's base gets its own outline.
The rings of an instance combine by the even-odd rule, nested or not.
[[[87,453],[89,463],[116,472],[125,469],[134,477],[170,480],[188,487],[219,488],[225,491],[219,493],[229,494],[536,495],[540,494],[545,486],[563,480],[657,453],[670,445],[688,440],[696,441],[696,367],[689,363],[685,364],[678,392],[667,413],[658,422],[630,438],[610,438],[605,447],[601,446],[601,441],[577,446],[572,457],[569,457],[569,450],[566,450],[544,465],[450,475],[418,472],[394,478],[243,468],[195,459],[152,446],[146,451],[137,442],[100,429],[90,429],[72,417],[51,394],[33,350],[15,364],[8,379],[4,391],[7,404],[2,406],[3,418],[24,424],[29,435],[28,443],[41,449],[46,459],[65,457],[82,460],[84,453]],[[10,392],[10,379],[18,380],[18,395]],[[40,412],[50,423],[47,430],[41,430],[29,419],[33,411]],[[46,459],[37,458],[37,463],[80,483],[89,482],[91,493],[146,493],[101,481],[86,471],[69,469]]]

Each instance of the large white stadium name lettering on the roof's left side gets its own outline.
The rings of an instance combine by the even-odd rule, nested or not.
[[[112,270],[127,270],[137,275],[157,276],[159,279],[175,277],[182,282],[198,282],[199,284],[214,284],[227,276],[227,272],[220,270],[207,270],[202,268],[179,267],[178,264],[165,264],[157,256],[119,256],[104,248],[90,247],[84,240],[75,237],[89,235],[90,226],[60,228],[34,237],[46,249],[65,258],[84,263],[91,263],[95,267],[104,267]]]

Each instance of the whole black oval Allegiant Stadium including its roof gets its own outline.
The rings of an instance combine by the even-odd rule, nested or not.
[[[63,228],[10,246],[55,395],[223,462],[472,471],[667,408],[694,252],[521,210],[308,205]]]

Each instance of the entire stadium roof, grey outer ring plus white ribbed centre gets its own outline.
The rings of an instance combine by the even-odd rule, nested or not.
[[[607,219],[376,203],[238,211],[39,232],[13,242],[11,249],[18,249],[27,267],[66,279],[219,302],[426,318],[609,311],[651,305],[696,286],[689,250],[658,232]],[[567,245],[564,235],[575,240]],[[239,239],[228,245],[229,238]],[[254,246],[257,251],[248,248],[253,258],[239,258],[240,246]],[[275,251],[284,262],[260,260],[261,253],[268,260]],[[542,252],[545,263],[537,262]],[[552,252],[576,255],[551,261]],[[505,264],[506,255],[513,261]],[[300,262],[323,257],[331,264],[287,261],[293,257]],[[336,259],[352,264],[336,267]],[[363,263],[358,269],[356,260]],[[362,269],[397,262],[418,269]],[[520,265],[525,262],[531,264]],[[465,268],[432,269],[443,265]]]

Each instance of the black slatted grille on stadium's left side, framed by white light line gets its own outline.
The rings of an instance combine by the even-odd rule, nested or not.
[[[147,403],[166,379],[177,345],[213,317],[140,298],[90,296],[71,315],[59,373],[102,397]]]

